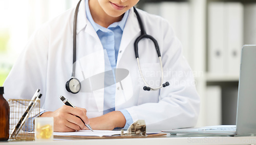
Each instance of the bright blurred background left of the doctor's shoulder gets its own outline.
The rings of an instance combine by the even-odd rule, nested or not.
[[[0,86],[42,23],[76,5],[75,0],[0,0]],[[29,58],[28,58],[29,59]]]

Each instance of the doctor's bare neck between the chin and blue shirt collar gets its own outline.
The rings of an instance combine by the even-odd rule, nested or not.
[[[89,1],[89,8],[93,20],[100,26],[108,28],[112,23],[122,20],[123,15],[112,17],[105,13],[98,1]]]

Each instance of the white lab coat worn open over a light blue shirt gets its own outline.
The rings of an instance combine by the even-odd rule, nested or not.
[[[85,78],[103,72],[102,44],[86,18],[84,1],[80,4],[77,21],[77,60]],[[89,118],[103,114],[104,88],[93,92],[72,94],[66,90],[71,78],[73,60],[73,17],[75,8],[68,10],[39,28],[31,37],[4,83],[5,98],[31,99],[35,90],[41,90],[41,109],[54,111],[65,96],[73,105],[87,109]],[[138,10],[147,34],[159,44],[162,54],[164,82],[170,86],[156,91],[144,91],[137,66],[134,41],[140,27],[131,9],[121,39],[117,68],[129,70],[122,82],[116,84],[116,110],[126,109],[135,122],[144,119],[147,129],[193,127],[197,123],[200,99],[194,85],[193,73],[182,56],[182,45],[173,29],[163,18]],[[152,41],[139,43],[139,58],[145,79],[159,86],[160,63]],[[76,77],[81,81],[80,71]],[[121,89],[121,88],[122,89]]]

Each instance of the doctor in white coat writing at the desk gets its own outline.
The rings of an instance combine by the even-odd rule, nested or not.
[[[137,9],[145,32],[159,45],[161,62],[150,39],[138,43],[139,64],[145,81],[153,86],[170,86],[145,91],[134,51],[141,29],[133,6],[139,0],[82,0],[77,15],[76,68],[73,69],[73,23],[75,8],[45,23],[31,37],[4,83],[5,98],[31,99],[41,90],[41,117],[54,117],[54,131],[70,132],[126,128],[144,119],[147,129],[193,127],[199,114],[199,96],[193,73],[182,56],[182,45],[163,18]],[[115,70],[114,84],[109,77],[98,79],[103,85],[91,91],[82,81]],[[127,75],[117,70],[125,70]],[[118,74],[119,73],[119,74]],[[117,76],[122,76],[121,81]],[[68,92],[71,77],[81,82],[81,90]],[[96,77],[97,78],[97,77]],[[111,78],[111,77],[110,77]],[[102,83],[103,82],[103,83]],[[95,80],[91,80],[94,83]],[[91,86],[92,87],[92,86]],[[93,87],[92,87],[93,88]],[[63,105],[63,95],[76,108]],[[76,115],[76,116],[75,116]]]

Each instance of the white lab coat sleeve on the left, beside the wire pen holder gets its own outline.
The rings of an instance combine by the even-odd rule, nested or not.
[[[49,44],[46,32],[45,26],[35,31],[13,65],[4,83],[6,99],[30,100],[40,89],[40,103],[44,103]]]

